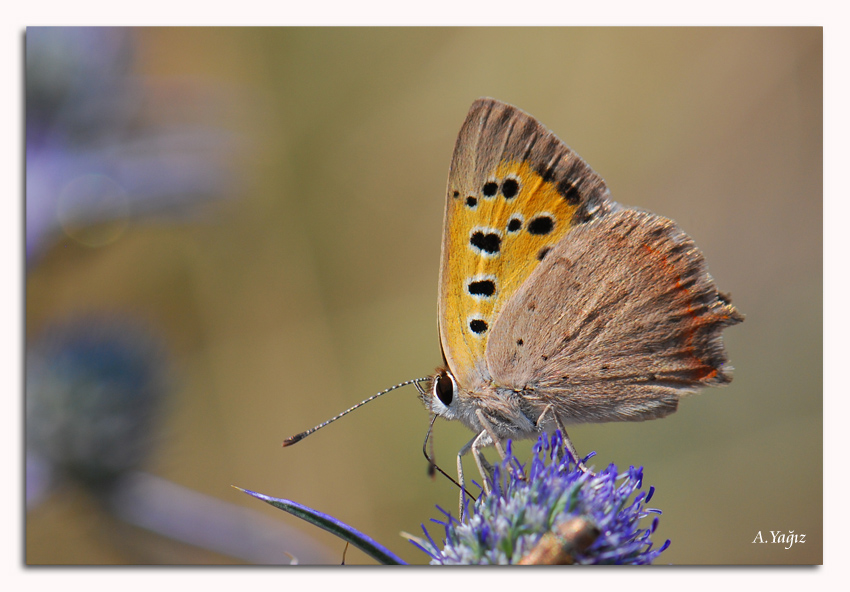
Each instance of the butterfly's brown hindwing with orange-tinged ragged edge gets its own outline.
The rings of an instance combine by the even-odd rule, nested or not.
[[[742,320],[673,221],[622,210],[547,254],[502,309],[487,364],[527,413],[554,403],[566,422],[663,417],[680,394],[731,380],[721,332]]]

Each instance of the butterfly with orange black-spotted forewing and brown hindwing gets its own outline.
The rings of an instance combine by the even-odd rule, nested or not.
[[[672,220],[621,206],[520,109],[475,101],[449,170],[439,281],[444,364],[421,389],[484,446],[564,424],[664,417],[727,384],[743,316]],[[461,498],[463,493],[461,493]]]

